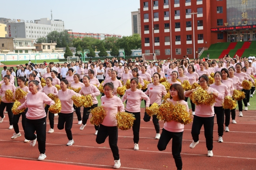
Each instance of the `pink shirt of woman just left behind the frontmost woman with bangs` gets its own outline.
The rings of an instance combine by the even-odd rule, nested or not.
[[[159,85],[154,85],[153,83],[148,84],[148,89],[145,92],[145,94],[148,96],[150,99],[150,105],[153,103],[158,103],[158,105],[161,105],[162,97],[167,93],[165,90],[164,85],[159,84]]]

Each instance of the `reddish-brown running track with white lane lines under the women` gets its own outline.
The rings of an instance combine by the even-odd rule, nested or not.
[[[81,108],[81,110],[83,110]],[[141,109],[143,113],[144,109]],[[185,170],[254,170],[256,167],[256,112],[243,111],[244,117],[238,117],[237,124],[230,123],[230,132],[224,132],[223,143],[218,143],[217,123],[215,118],[213,132],[213,157],[207,157],[207,148],[204,138],[203,127],[199,136],[199,144],[189,148],[192,141],[192,123],[185,126],[182,142],[182,161]],[[24,131],[21,137],[11,139],[14,130],[9,127],[8,116],[0,124],[0,157],[15,159],[27,159],[37,161],[39,151],[37,144],[31,147],[29,143],[23,143]],[[47,118],[48,119],[48,118]],[[66,146],[68,139],[65,130],[58,130],[58,116],[55,117],[55,132],[46,134],[46,156],[44,161],[70,165],[91,166],[98,168],[113,168],[113,156],[108,144],[108,138],[103,144],[97,144],[94,135],[94,126],[87,122],[84,130],[79,130],[76,114],[72,134],[74,145]],[[160,121],[160,128],[163,122]],[[50,125],[47,120],[47,131]],[[152,121],[144,122],[141,114],[141,128],[139,150],[133,150],[132,130],[119,130],[119,154],[121,159],[120,169],[137,170],[175,170],[176,166],[171,154],[171,143],[165,151],[158,151],[158,140],[154,139],[156,132]],[[10,165],[12,166],[12,165]]]

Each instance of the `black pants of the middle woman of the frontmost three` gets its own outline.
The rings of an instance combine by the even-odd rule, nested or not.
[[[117,146],[118,128],[116,126],[107,127],[100,124],[100,128],[96,136],[96,142],[98,144],[104,143],[107,137],[108,137],[109,146],[113,153],[114,160],[119,160],[119,150]]]

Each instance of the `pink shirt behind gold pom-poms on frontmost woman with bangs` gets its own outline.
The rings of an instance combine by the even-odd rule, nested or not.
[[[185,105],[186,108],[187,108],[187,112],[189,112],[187,102],[184,101],[184,100],[174,101],[173,99],[167,99],[167,102],[173,103],[174,105],[176,103],[180,103],[182,105]],[[168,130],[169,132],[183,132],[184,131],[184,125],[182,125],[181,123],[177,123],[176,121],[165,122],[164,125],[163,125],[163,128],[165,130]]]

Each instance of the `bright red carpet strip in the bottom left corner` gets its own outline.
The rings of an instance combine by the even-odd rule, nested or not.
[[[46,158],[47,159],[47,158]],[[93,168],[87,166],[67,165],[59,163],[49,163],[45,161],[28,161],[24,159],[11,159],[0,157],[1,169],[2,170],[106,170],[103,168]]]

